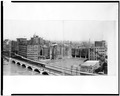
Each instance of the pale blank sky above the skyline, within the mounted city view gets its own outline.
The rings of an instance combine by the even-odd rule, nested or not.
[[[15,40],[34,34],[47,40],[95,41],[107,40],[115,31],[114,21],[28,21],[7,20],[4,26],[4,38]]]

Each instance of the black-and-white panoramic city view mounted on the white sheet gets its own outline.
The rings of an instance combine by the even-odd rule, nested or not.
[[[115,22],[5,23],[4,36],[11,38],[5,39],[3,46],[5,75],[107,75],[107,32],[114,31]]]

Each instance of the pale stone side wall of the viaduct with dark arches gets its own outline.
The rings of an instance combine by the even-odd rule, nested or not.
[[[9,62],[13,63],[13,64],[20,65],[23,68],[28,68],[31,71],[38,72],[41,75],[60,75],[60,74],[57,74],[53,71],[50,71],[50,70],[46,69],[45,67],[39,67],[39,66],[36,66],[36,65],[32,65],[32,64],[29,64],[27,62],[17,60],[17,59],[14,59],[14,58],[9,58]]]

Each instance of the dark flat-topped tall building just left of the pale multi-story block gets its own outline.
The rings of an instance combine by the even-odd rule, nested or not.
[[[27,39],[26,38],[17,38],[18,43],[18,54],[27,57]]]

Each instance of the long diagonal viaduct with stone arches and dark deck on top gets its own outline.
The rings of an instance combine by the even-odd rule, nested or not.
[[[18,58],[19,57],[19,58]],[[8,58],[4,56],[3,58],[9,61],[10,63],[20,65],[24,68],[28,68],[31,71],[39,72],[42,75],[80,75],[80,71],[78,70],[71,70],[70,68],[64,68],[61,66],[52,66],[43,62],[36,62],[33,60],[30,60],[28,58],[24,58],[22,56]]]

